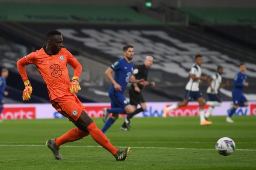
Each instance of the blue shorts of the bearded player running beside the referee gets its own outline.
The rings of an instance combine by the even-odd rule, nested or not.
[[[120,92],[114,91],[114,93],[109,93],[109,97],[111,99],[111,108],[124,108],[130,104]]]

